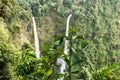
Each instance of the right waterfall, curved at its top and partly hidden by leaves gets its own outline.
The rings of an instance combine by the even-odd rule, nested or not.
[[[66,26],[65,36],[67,36],[67,37],[69,36],[69,22],[70,22],[71,16],[72,16],[72,14],[70,14],[70,15],[68,16],[68,18],[67,18],[67,23],[66,23],[67,26]],[[66,55],[69,54],[69,48],[68,48],[68,46],[69,46],[69,40],[66,40],[66,39],[65,39],[64,53],[65,53]],[[58,64],[61,65],[61,67],[60,67],[60,74],[64,74],[64,71],[66,70],[66,67],[67,67],[65,61],[64,61],[63,59],[59,58],[59,59],[58,59]],[[64,77],[60,78],[59,80],[63,80],[63,79],[64,79]]]

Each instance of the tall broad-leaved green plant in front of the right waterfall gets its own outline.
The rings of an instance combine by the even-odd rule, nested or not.
[[[60,36],[55,38],[55,41],[58,43],[58,45],[63,42],[64,39],[69,40],[69,49],[70,49],[70,54],[69,55],[64,55],[62,59],[66,62],[68,65],[68,71],[63,75],[65,80],[73,80],[73,79],[83,79],[82,75],[86,75],[81,72],[82,67],[85,64],[90,64],[85,60],[88,58],[88,56],[85,55],[85,53],[82,51],[88,43],[85,41],[84,36],[81,36],[77,34],[78,28],[74,27],[74,29],[71,29],[69,32],[69,36]],[[83,56],[81,56],[83,55]],[[62,76],[62,75],[61,75]],[[86,77],[87,78],[87,77]]]

